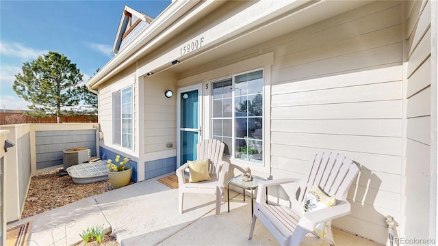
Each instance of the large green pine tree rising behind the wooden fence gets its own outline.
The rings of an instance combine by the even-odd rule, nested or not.
[[[49,51],[22,66],[23,73],[15,75],[12,88],[24,100],[31,102],[34,117],[56,115],[57,122],[72,107],[79,105],[83,90],[79,83],[83,74],[76,64],[55,51]]]

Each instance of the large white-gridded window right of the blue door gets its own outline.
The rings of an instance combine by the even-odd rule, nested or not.
[[[211,133],[226,145],[224,154],[263,163],[263,71],[212,84]]]

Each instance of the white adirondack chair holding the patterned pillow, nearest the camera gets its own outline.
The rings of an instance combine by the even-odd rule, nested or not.
[[[319,223],[350,213],[350,204],[346,200],[346,195],[358,172],[357,165],[346,156],[337,153],[322,153],[316,154],[315,158],[309,161],[309,170],[303,180],[284,178],[259,182],[249,238],[253,237],[255,221],[258,218],[281,245],[300,245],[306,234],[313,232]],[[264,192],[266,187],[290,182],[300,184],[300,195],[295,206],[289,208],[266,202]],[[336,204],[329,208],[302,214],[302,202],[313,184],[319,185],[328,195],[335,197]],[[315,234],[312,233],[310,236],[315,236]],[[330,238],[329,243],[334,245],[331,228],[326,232],[326,238]]]

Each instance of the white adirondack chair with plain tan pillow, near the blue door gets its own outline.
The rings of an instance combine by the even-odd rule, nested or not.
[[[183,213],[184,193],[203,193],[216,195],[216,215],[220,214],[224,180],[229,169],[229,163],[222,161],[224,148],[225,144],[217,139],[205,139],[196,145],[197,159],[210,160],[209,172],[211,180],[194,183],[186,182],[184,170],[188,168],[188,163],[181,165],[177,169],[179,213]]]

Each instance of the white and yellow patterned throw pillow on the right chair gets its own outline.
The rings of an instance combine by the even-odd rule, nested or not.
[[[315,210],[320,210],[322,208],[329,208],[336,204],[335,197],[331,197],[327,195],[320,187],[317,185],[313,185],[313,187],[309,190],[304,198],[304,204],[302,206],[302,213],[311,213]],[[326,230],[331,226],[331,222],[319,223],[315,232],[322,238],[322,240],[326,240]]]

